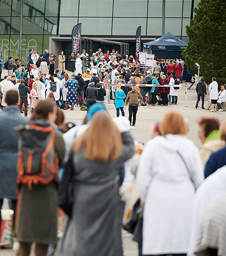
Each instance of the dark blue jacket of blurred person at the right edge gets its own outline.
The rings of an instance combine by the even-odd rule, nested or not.
[[[209,160],[206,163],[206,167],[204,170],[205,179],[213,174],[217,169],[226,165],[226,147],[218,150],[210,156]]]

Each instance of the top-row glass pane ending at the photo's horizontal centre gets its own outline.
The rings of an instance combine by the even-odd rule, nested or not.
[[[113,0],[82,0],[79,4],[79,16],[111,17]]]

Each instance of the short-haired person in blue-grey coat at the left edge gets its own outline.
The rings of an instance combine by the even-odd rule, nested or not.
[[[28,119],[22,117],[16,104],[19,103],[17,91],[10,90],[6,93],[5,101],[7,107],[0,115],[0,209],[3,205],[3,199],[11,199],[11,208],[16,209],[16,189],[17,189],[17,143],[18,134],[14,127],[26,122]],[[15,214],[14,214],[15,218]],[[0,225],[1,225],[0,214]]]

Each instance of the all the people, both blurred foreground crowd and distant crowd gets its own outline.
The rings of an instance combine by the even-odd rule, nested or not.
[[[109,51],[104,55],[99,49],[89,60],[83,50],[84,60],[81,56],[79,59],[86,63],[88,58],[93,66],[87,65],[84,71],[81,66],[81,73],[77,73],[75,58],[69,63],[73,63],[75,70],[71,72],[76,75],[69,77],[69,73],[53,66],[53,75],[44,76],[38,73],[37,51],[30,53],[29,61],[35,61],[28,71],[30,81],[24,79],[27,71],[19,66],[15,75],[6,76],[0,83],[0,208],[4,198],[11,200],[14,242],[19,243],[16,255],[29,256],[35,242],[36,256],[46,256],[50,246],[56,246],[56,256],[123,256],[122,226],[127,223],[128,227],[132,213],[137,215],[131,232],[138,242],[139,256],[225,255],[226,122],[220,124],[217,118],[207,117],[199,120],[199,150],[187,138],[188,121],[176,111],[166,112],[151,127],[145,146],[134,141],[130,132],[138,106],[146,102],[144,88],[136,84],[144,81],[164,85],[148,89],[147,100],[153,105],[160,101],[154,97],[159,94],[155,91],[158,88],[161,104],[168,104],[168,96],[170,102],[177,103],[182,73],[173,70],[171,61],[165,75],[158,73],[161,70],[155,65],[153,71],[138,71],[140,67],[130,56],[129,68],[122,65],[122,75],[118,63],[127,62],[126,56]],[[52,55],[49,57],[53,62]],[[63,52],[60,55],[59,68],[63,69],[65,56]],[[107,69],[108,62],[100,67],[95,64],[95,58],[104,61],[103,56],[111,68]],[[49,69],[54,65],[51,59],[49,65]],[[105,104],[110,93],[105,79],[114,84],[111,94],[117,110],[115,119],[110,118]],[[123,86],[126,79],[131,88]],[[205,80],[201,79],[196,107],[206,94]],[[209,92],[214,112],[220,103],[217,98],[225,95],[225,89],[218,93],[216,78],[212,80]],[[166,84],[172,85],[170,89]],[[30,119],[20,114],[24,104],[28,115],[29,97]],[[65,123],[65,112],[57,108],[60,103],[63,110],[86,104],[83,123]],[[129,120],[124,117],[127,103]],[[137,200],[138,211],[134,212]],[[64,216],[62,230],[58,230],[59,215]],[[59,233],[61,236],[57,236]]]

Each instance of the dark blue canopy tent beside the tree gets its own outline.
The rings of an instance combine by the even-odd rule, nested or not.
[[[151,51],[152,54],[158,57],[159,62],[162,62],[161,69],[166,74],[166,65],[169,59],[173,59],[176,63],[176,59],[182,57],[182,49],[188,47],[186,42],[178,39],[170,32],[157,38],[156,40],[143,43],[143,49]],[[184,69],[183,77],[187,77],[187,69]]]

